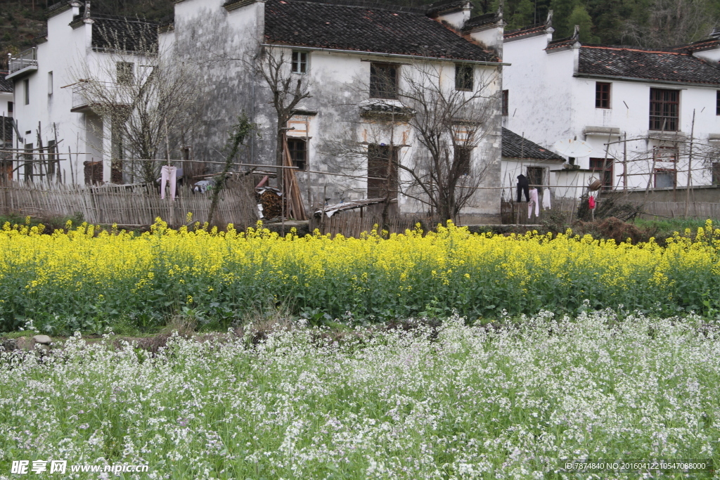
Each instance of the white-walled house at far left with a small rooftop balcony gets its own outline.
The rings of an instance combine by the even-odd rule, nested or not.
[[[51,6],[48,30],[36,39],[37,46],[9,59],[5,78],[14,84],[19,147],[34,150],[24,155],[24,160],[34,161],[22,160],[14,178],[47,176],[55,181],[60,176],[68,184],[122,181],[122,173],[112,168],[111,157],[117,156],[110,145],[112,124],[92,111],[78,77],[91,72],[100,81],[117,81],[113,77],[120,66],[115,65],[118,55],[112,44],[128,28],[140,27],[157,35],[156,27],[132,19],[94,16],[89,5],[89,1],[73,0]],[[131,50],[122,55],[127,60],[125,68],[138,67],[139,58],[134,58]],[[41,142],[42,148],[58,142],[58,162],[38,161]]]

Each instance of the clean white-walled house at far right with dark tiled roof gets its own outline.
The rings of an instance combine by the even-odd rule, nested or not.
[[[717,183],[717,39],[659,50],[586,45],[577,29],[553,40],[550,19],[505,32],[503,125],[544,148],[567,139],[592,148],[552,172],[552,185],[580,187],[558,192],[577,196],[591,178],[615,189],[679,188],[688,167],[693,186]]]

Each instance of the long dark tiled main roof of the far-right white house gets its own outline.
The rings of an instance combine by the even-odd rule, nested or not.
[[[720,68],[669,50],[582,45],[577,73],[720,85]]]

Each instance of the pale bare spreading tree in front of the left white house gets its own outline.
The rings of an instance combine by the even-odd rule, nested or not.
[[[73,95],[111,124],[97,129],[102,145],[95,147],[112,158],[115,173],[125,168],[142,181],[155,181],[161,165],[135,160],[169,159],[197,118],[197,69],[158,48],[156,29],[129,19],[94,25],[105,45],[98,49],[101,60],[73,72]]]

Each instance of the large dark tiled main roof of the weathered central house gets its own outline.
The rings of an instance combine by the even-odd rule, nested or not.
[[[425,14],[388,6],[267,0],[265,40],[336,50],[498,61]]]

